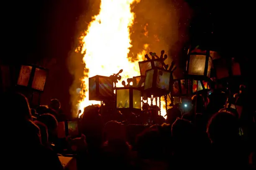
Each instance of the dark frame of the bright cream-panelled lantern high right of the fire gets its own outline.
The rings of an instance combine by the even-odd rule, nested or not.
[[[195,55],[195,57],[199,56],[199,55],[205,57],[205,68],[203,70],[203,74],[202,75],[197,75],[197,74],[189,73],[189,69],[191,68],[191,65],[190,65],[191,64],[191,57],[194,56],[194,55]],[[210,65],[210,70],[209,70],[209,65]],[[210,56],[209,51],[207,51],[206,54],[205,53],[199,53],[199,52],[191,52],[191,53],[189,53],[188,59],[187,59],[187,66],[186,66],[186,72],[187,72],[188,78],[193,78],[193,79],[196,79],[196,80],[207,80],[207,81],[209,81],[211,68],[212,68],[212,57]]]

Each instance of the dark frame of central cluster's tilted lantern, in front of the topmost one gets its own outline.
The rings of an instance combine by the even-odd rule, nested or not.
[[[152,85],[150,88],[147,88],[145,89],[146,87],[146,80],[147,80],[147,76],[145,78],[145,85],[144,85],[144,92],[146,92],[146,94],[150,94],[150,95],[154,95],[155,97],[161,97],[163,95],[167,95],[169,92],[170,92],[170,89],[172,87],[172,83],[173,83],[173,75],[172,75],[172,72],[169,71],[169,70],[165,70],[165,69],[162,69],[162,68],[154,68],[154,69],[150,69],[150,70],[147,70],[146,71],[146,75],[148,72],[150,72],[151,70],[154,70],[154,73],[153,73],[153,80],[152,80]],[[158,75],[158,70],[161,70],[163,72],[169,72],[170,73],[170,77],[169,77],[169,86],[168,86],[168,90],[165,90],[165,89],[161,89],[159,87],[156,87],[156,82],[157,82],[157,75]]]

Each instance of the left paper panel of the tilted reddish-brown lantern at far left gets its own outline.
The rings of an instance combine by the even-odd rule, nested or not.
[[[32,67],[28,65],[22,65],[20,68],[20,74],[18,77],[18,85],[28,86],[28,82],[31,76]]]

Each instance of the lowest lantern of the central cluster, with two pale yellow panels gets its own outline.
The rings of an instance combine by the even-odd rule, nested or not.
[[[136,87],[116,87],[116,107],[118,110],[141,110],[141,90]]]

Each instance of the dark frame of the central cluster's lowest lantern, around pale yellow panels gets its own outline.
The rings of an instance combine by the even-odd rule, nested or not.
[[[118,107],[118,90],[129,90],[129,107]],[[133,91],[137,90],[138,92],[140,92],[140,108],[136,108],[133,107]],[[141,111],[141,89],[138,87],[116,87],[115,88],[115,107],[117,108],[117,110],[120,110],[122,112],[122,110],[137,110],[137,111]]]

